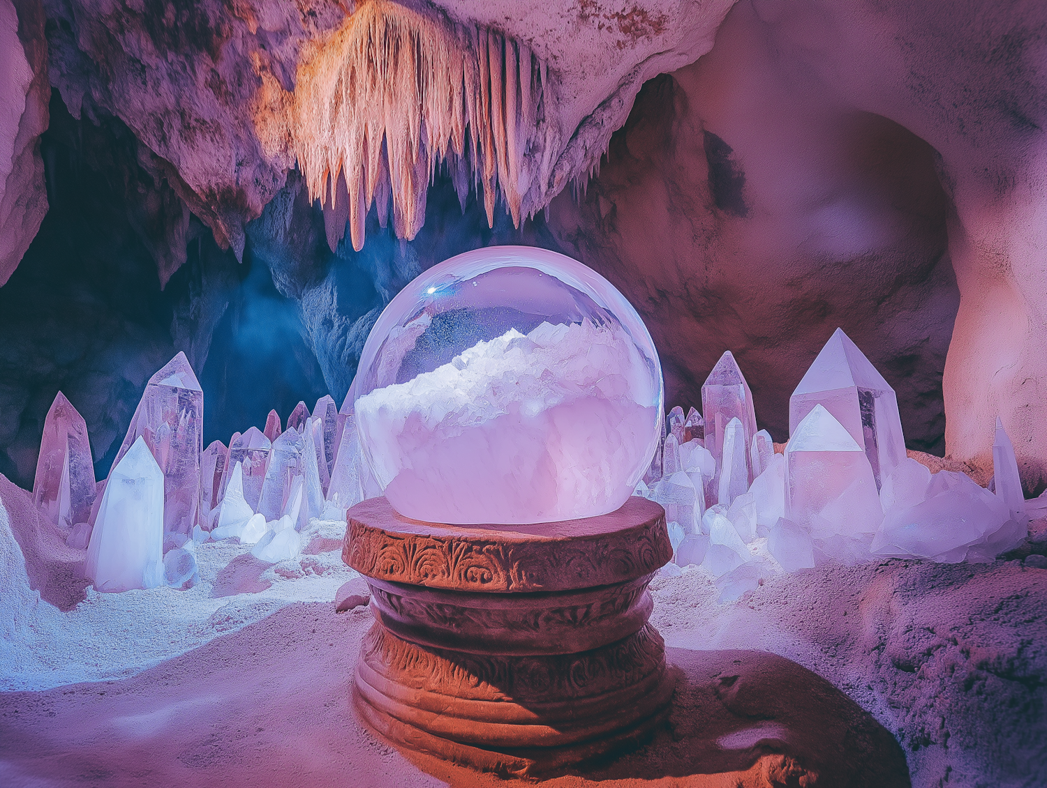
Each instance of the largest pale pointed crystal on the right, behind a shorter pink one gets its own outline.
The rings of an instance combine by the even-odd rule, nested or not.
[[[789,398],[789,432],[815,405],[836,416],[862,448],[876,487],[906,458],[898,402],[862,351],[837,329]]]

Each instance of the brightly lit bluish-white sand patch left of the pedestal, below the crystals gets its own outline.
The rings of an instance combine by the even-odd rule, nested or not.
[[[341,560],[344,532],[344,521],[311,520],[303,543],[309,549],[311,541],[322,540],[318,543],[328,549],[268,568],[240,558],[250,558],[250,544],[205,542],[197,547],[200,582],[186,590],[101,593],[89,587],[87,599],[64,613],[42,602],[24,637],[0,652],[0,691],[127,678],[286,605],[330,603],[340,585],[358,577]],[[223,572],[238,559],[236,578]],[[235,592],[238,585],[257,589],[267,583],[264,590]],[[215,596],[216,590],[228,595]]]

